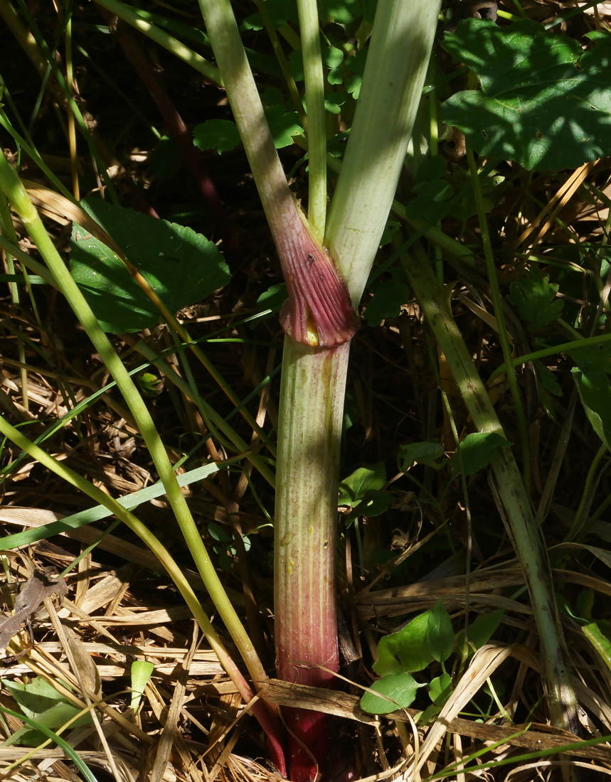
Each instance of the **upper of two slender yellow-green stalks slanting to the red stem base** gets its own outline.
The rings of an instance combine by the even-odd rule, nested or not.
[[[144,404],[142,396],[138,393],[138,389],[129,376],[128,371],[124,368],[124,365],[121,363],[115,350],[113,350],[110,340],[106,334],[102,332],[98,321],[95,319],[88,303],[84,300],[84,296],[78,289],[77,284],[70,276],[66,264],[64,264],[61,256],[59,256],[56,247],[45,230],[45,226],[38,216],[38,212],[34,209],[34,206],[28,198],[22,182],[13,168],[9,166],[4,155],[0,155],[0,188],[2,188],[9,197],[13,210],[19,214],[23,221],[23,225],[27,228],[31,238],[38,247],[39,252],[45,259],[59,288],[63,291],[64,296],[66,296],[66,300],[70,303],[72,310],[74,310],[74,314],[77,316],[78,320],[81,321],[81,325],[83,325],[83,328],[92,340],[95,349],[99,353],[100,359],[117,382],[117,387],[120,389],[121,394],[124,396],[124,400],[131,410],[131,414],[134,416],[134,420],[142,433],[146,447],[148,448],[156,470],[159,473],[161,482],[164,484],[167,499],[174,511],[174,515],[176,516],[178,525],[185,537],[185,542],[189,547],[189,551],[196,563],[199,574],[206,584],[210,598],[217,607],[221,619],[225,622],[225,626],[229,633],[231,633],[235,645],[243,655],[244,662],[246,663],[246,667],[248,668],[253,681],[264,680],[266,675],[263,666],[261,665],[261,661],[250,642],[246,630],[244,630],[242,622],[239,621],[235,609],[225,594],[225,590],[217,576],[214,565],[208,557],[206,547],[203,545],[203,541],[199,535],[191,511],[189,511],[189,506],[186,503],[185,497],[183,497],[178,482],[176,482],[176,476],[174,475],[171,462],[167,457],[164,444],[160,439],[159,433],[156,431],[153,419],[150,416],[146,404]]]

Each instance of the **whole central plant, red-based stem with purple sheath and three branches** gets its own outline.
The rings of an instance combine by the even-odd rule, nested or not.
[[[326,221],[324,244],[329,256],[316,241],[325,226],[321,159],[326,138],[315,0],[299,3],[311,151],[311,224],[286,184],[228,0],[199,2],[289,290],[282,314],[287,336],[275,508],[279,676],[325,685],[338,662],[335,523],[347,342],[355,327],[352,305],[360,300],[393,202],[439,3],[379,2],[361,99]],[[311,754],[318,763],[325,762],[328,729],[321,716],[311,712],[291,712],[286,718],[294,734],[289,744],[291,779],[311,780],[318,769]]]

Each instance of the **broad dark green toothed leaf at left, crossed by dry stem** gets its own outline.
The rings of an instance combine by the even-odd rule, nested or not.
[[[229,281],[221,253],[192,228],[95,198],[81,206],[108,231],[171,312]],[[106,245],[74,224],[70,246],[70,271],[104,331],[136,332],[159,321],[155,305]]]

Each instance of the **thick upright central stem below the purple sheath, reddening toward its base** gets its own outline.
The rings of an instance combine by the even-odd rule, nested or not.
[[[282,354],[275,504],[275,640],[279,678],[326,687],[337,669],[335,540],[343,394],[349,344],[313,350],[287,337]],[[324,665],[325,669],[321,669]],[[327,755],[325,717],[287,715],[317,761]],[[315,769],[290,740],[291,778]]]

